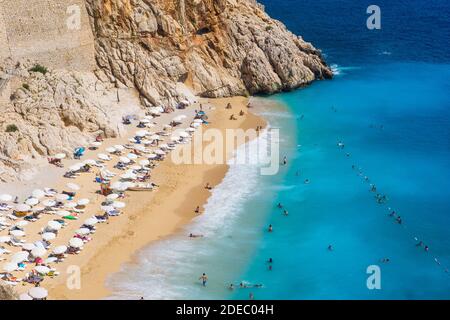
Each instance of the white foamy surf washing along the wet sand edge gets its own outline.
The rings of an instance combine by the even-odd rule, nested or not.
[[[259,139],[268,139],[268,131],[263,131],[258,139],[249,144],[259,143]],[[249,155],[245,148],[246,145],[239,147],[235,157],[240,153],[246,154],[246,157],[258,156]],[[125,265],[119,273],[112,275],[108,287],[113,295],[109,298],[200,298],[204,291],[196,281],[198,266],[206,265],[210,270],[223,268],[222,265],[214,265],[220,262],[211,257],[223,256],[221,251],[230,250],[230,246],[239,247],[238,243],[229,241],[229,235],[236,227],[236,218],[243,213],[246,201],[257,195],[256,192],[261,192],[258,188],[260,166],[254,164],[255,161],[246,163],[234,165],[230,161],[230,169],[221,184],[212,191],[205,212],[186,226],[181,234],[150,245],[139,253],[136,265]],[[190,239],[187,236],[189,233],[203,234],[205,238]],[[215,279],[218,277],[220,275],[215,275]],[[218,287],[214,292],[221,289]]]

